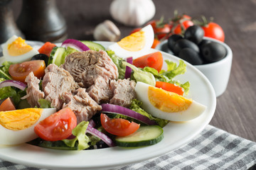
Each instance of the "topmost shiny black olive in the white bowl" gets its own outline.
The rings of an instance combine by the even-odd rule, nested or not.
[[[191,40],[192,42],[199,44],[203,40],[204,30],[201,26],[190,26],[184,33],[184,38]]]

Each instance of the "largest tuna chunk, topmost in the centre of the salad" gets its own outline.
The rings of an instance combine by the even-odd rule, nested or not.
[[[105,81],[118,77],[117,66],[107,52],[102,50],[74,52],[65,57],[62,67],[70,72],[80,86],[85,88],[95,84],[98,77],[102,77]]]

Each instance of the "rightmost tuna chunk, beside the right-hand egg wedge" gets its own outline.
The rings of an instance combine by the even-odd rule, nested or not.
[[[112,80],[110,89],[114,96],[110,99],[110,103],[128,108],[132,99],[136,98],[135,85],[135,81],[129,79]]]

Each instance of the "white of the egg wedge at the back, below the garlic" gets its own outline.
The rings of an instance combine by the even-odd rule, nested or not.
[[[122,47],[120,47],[117,44],[117,42],[115,42],[114,44],[107,47],[107,49],[114,51],[115,55],[117,55],[118,57],[122,57],[122,58],[141,57],[143,55],[146,55],[147,51],[149,51],[149,49],[151,49],[151,46],[153,45],[153,42],[154,42],[154,30],[150,24],[148,26],[145,26],[144,28],[142,28],[142,30],[144,31],[144,35],[145,35],[145,45],[142,48],[142,50],[139,50],[136,52],[124,50]]]

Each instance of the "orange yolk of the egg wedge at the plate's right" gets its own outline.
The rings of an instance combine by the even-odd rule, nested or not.
[[[186,111],[192,103],[188,98],[154,86],[149,86],[148,96],[154,107],[168,113]]]

